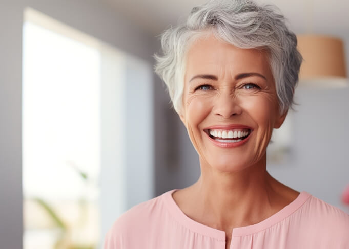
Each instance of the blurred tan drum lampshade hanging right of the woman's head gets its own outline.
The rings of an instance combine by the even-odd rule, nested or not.
[[[341,39],[323,35],[298,35],[298,50],[303,56],[300,81],[331,83],[346,81],[344,47]]]

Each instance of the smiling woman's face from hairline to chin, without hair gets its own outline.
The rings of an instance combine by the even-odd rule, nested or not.
[[[183,111],[200,163],[235,172],[260,162],[281,126],[268,54],[201,38],[188,51]]]

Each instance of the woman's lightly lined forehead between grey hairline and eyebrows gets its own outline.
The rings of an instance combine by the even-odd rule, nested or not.
[[[186,79],[193,74],[239,74],[257,72],[270,76],[268,54],[259,49],[241,49],[211,35],[197,39],[188,50]]]

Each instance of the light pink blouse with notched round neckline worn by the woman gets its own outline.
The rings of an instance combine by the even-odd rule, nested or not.
[[[186,216],[170,190],[113,224],[104,249],[225,249],[225,232]],[[349,248],[349,214],[303,191],[271,217],[234,228],[230,248]]]

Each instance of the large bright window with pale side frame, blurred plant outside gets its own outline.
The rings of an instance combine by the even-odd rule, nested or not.
[[[101,248],[153,197],[152,84],[149,62],[25,10],[24,249]]]

